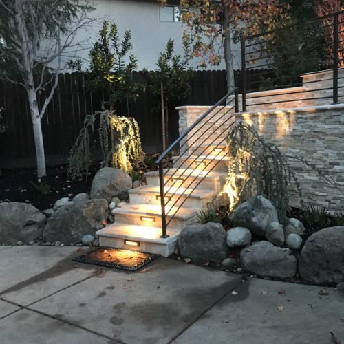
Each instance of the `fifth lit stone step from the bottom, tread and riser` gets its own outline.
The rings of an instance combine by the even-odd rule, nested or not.
[[[182,167],[184,169],[199,169],[212,171],[228,171],[229,157],[225,155],[180,155],[173,156],[173,167]]]

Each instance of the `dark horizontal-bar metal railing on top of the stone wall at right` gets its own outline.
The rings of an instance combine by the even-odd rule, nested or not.
[[[338,89],[344,85],[338,80],[338,68],[344,67],[344,11],[319,17],[312,21],[289,25],[284,28],[245,36],[241,38],[242,111],[247,107],[294,101],[279,102],[274,96],[291,94],[269,94],[272,98],[259,100],[266,94],[252,95],[252,92],[270,91],[289,87],[305,86],[292,92],[297,100],[326,99],[338,103]],[[249,80],[248,71],[264,69],[259,80]],[[326,87],[317,87],[319,80],[303,82],[300,75],[332,69]],[[314,84],[314,85],[312,85]],[[312,93],[313,92],[313,93]],[[314,96],[314,92],[318,92]],[[299,95],[297,95],[299,93]],[[301,93],[303,93],[301,95]],[[343,96],[344,92],[340,92]],[[249,101],[250,100],[250,101]]]

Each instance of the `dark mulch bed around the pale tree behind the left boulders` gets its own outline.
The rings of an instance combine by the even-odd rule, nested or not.
[[[89,193],[92,179],[99,169],[99,164],[94,164],[89,169],[87,180],[80,181],[67,179],[67,165],[47,167],[47,177],[42,181],[50,186],[49,195],[42,195],[31,182],[37,184],[36,169],[1,169],[0,177],[0,202],[30,203],[40,210],[52,208],[56,200],[62,197],[74,197],[78,193]]]

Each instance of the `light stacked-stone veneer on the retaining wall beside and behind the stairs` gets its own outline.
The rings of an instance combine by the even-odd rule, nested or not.
[[[202,116],[209,107],[178,107],[180,114],[180,132],[189,127],[197,118]],[[338,191],[328,182],[321,180],[312,169],[300,162],[290,160],[290,165],[297,173],[297,178],[303,190],[304,201],[333,211],[344,206],[344,104],[321,105],[316,107],[299,107],[284,110],[262,110],[246,113],[217,115],[220,125],[213,138],[219,143],[226,134],[219,135],[222,124],[226,120],[239,123],[247,122],[257,129],[266,142],[273,142],[283,153],[305,158],[310,164],[323,171],[336,181],[341,188]],[[228,119],[229,118],[229,119]],[[202,133],[209,133],[209,125],[204,125]],[[202,144],[205,136],[197,136],[197,144]],[[195,140],[195,138],[191,138]],[[203,144],[204,144],[203,143]],[[297,199],[291,200],[297,205]]]

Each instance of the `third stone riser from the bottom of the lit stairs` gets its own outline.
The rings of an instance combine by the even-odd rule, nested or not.
[[[156,195],[159,195],[159,193],[156,193]],[[131,204],[160,204],[160,200],[156,199],[155,193],[145,193],[145,194],[135,194],[135,193],[130,193],[129,194],[129,200]],[[204,208],[208,202],[213,201],[213,197],[215,197],[216,193],[214,192],[214,195],[204,197],[202,199],[197,198],[197,197],[188,197],[185,200],[186,196],[180,197],[178,202],[175,204],[175,206],[180,206],[182,202],[184,202],[183,206],[186,208],[194,208],[195,210]],[[171,201],[169,204],[173,204],[175,200],[178,199],[179,196],[173,196],[171,197]]]

